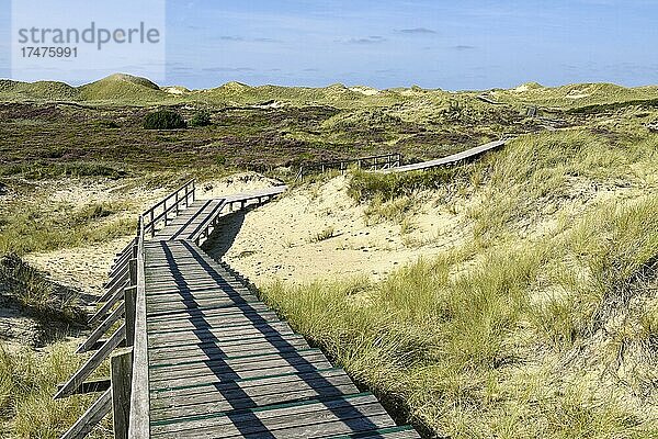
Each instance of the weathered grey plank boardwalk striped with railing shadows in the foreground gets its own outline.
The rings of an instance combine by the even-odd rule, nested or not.
[[[188,202],[185,189],[186,209],[152,222],[137,250],[129,432],[115,421],[115,437],[419,438],[200,247],[223,210],[284,190]]]

